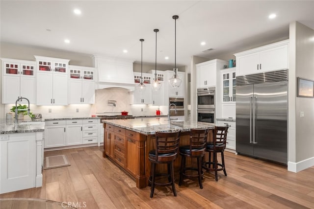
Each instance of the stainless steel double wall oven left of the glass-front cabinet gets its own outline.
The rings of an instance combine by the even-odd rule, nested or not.
[[[197,89],[197,121],[215,122],[215,87]]]

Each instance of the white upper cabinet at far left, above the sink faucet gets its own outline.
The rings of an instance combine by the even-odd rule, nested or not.
[[[2,58],[2,103],[14,104],[19,97],[36,103],[35,62]],[[26,103],[24,100],[21,103]]]

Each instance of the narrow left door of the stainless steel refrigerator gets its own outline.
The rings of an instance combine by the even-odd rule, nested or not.
[[[253,156],[253,85],[236,86],[236,151]]]

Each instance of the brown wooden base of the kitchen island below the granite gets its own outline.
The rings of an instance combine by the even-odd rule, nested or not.
[[[103,157],[109,157],[113,162],[130,174],[136,181],[136,187],[145,188],[148,186],[151,173],[151,164],[148,160],[148,153],[154,149],[154,134],[143,134],[122,128],[121,125],[112,125],[113,120],[104,122],[104,151]],[[202,124],[204,127],[204,123]],[[208,140],[213,139],[214,125],[209,123]],[[133,128],[134,130],[134,128]],[[180,146],[189,144],[189,131],[184,129],[181,133]],[[188,159],[187,164],[197,163],[195,159]],[[181,156],[174,162],[175,175],[179,175]],[[157,172],[166,172],[167,166],[158,164]]]

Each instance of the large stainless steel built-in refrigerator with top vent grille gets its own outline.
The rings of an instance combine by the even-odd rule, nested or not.
[[[288,70],[236,77],[236,152],[287,164]]]

